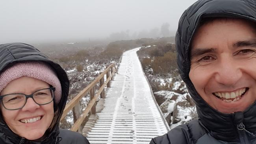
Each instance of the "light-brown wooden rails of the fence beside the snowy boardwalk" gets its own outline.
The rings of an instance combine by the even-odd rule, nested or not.
[[[91,102],[87,105],[86,109],[83,111],[83,113],[80,115],[80,117],[78,118],[78,120],[76,120],[74,126],[72,126],[72,128],[70,130],[72,131],[77,131],[78,127],[80,127],[80,125],[82,124],[83,120],[86,118],[87,114],[89,113],[89,111],[91,111],[93,105],[95,104],[96,100],[98,99],[98,97],[100,96],[100,93],[104,90],[105,86],[107,85],[107,83],[110,82],[111,78],[114,76],[115,72],[117,72],[115,63],[112,63],[111,65],[109,65],[106,70],[104,70],[104,72],[102,72],[93,82],[91,82],[85,89],[83,89],[75,98],[73,98],[65,107],[63,114],[61,116],[61,120],[63,120],[63,118],[67,115],[67,113],[69,113],[69,111],[71,111],[73,109],[73,107],[77,104],[79,104],[79,101],[83,98],[83,96],[85,96],[85,94],[87,94],[87,92],[90,92],[91,89],[93,89],[95,87],[95,85],[104,78],[104,75],[107,74],[112,68],[112,72],[111,75],[108,77],[108,79],[104,82],[101,83],[101,87],[98,90],[97,94],[95,94],[95,96],[91,99]],[[113,68],[115,68],[113,70]],[[104,79],[103,79],[104,81]],[[105,97],[105,96],[104,96]]]

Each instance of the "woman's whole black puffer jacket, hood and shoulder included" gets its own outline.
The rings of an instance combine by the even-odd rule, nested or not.
[[[0,45],[0,73],[14,63],[20,61],[43,61],[52,66],[61,82],[62,96],[57,107],[59,117],[52,131],[40,142],[27,140],[13,133],[0,114],[0,144],[89,144],[80,133],[59,129],[59,120],[67,103],[69,94],[69,79],[66,72],[57,63],[51,61],[46,55],[31,45],[24,43],[9,43]]]

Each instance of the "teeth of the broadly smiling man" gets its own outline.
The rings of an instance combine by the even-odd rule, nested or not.
[[[244,94],[246,91],[246,88],[236,90],[234,92],[214,92],[215,96],[218,96],[220,98],[230,99],[235,98],[234,100],[223,100],[224,102],[236,102],[240,99],[241,95]]]

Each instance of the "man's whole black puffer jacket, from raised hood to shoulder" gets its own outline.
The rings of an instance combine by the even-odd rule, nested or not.
[[[244,112],[224,114],[211,108],[189,79],[189,48],[202,18],[231,17],[256,22],[256,0],[199,0],[182,15],[176,33],[180,75],[196,103],[199,119],[182,124],[150,144],[256,144],[256,103]]]

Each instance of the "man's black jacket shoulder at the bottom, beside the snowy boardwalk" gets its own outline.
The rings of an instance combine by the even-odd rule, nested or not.
[[[152,138],[149,144],[194,144],[186,124],[175,127],[168,133]]]

